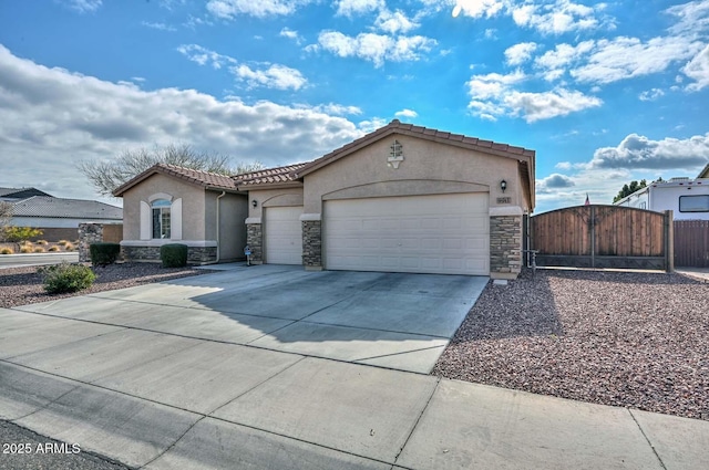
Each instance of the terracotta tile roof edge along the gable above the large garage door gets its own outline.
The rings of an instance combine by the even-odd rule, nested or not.
[[[535,152],[530,150],[523,147],[516,147],[507,144],[500,144],[492,140],[483,140],[476,137],[467,137],[462,134],[451,134],[443,130],[436,130],[423,126],[414,126],[413,124],[404,124],[399,119],[393,119],[391,123],[386,125],[384,127],[380,127],[377,130],[367,134],[363,137],[360,137],[356,140],[350,142],[349,144],[330,152],[329,154],[312,160],[304,166],[300,170],[298,170],[298,177],[301,177],[310,171],[315,171],[316,169],[327,165],[330,160],[335,161],[354,150],[358,150],[379,138],[386,137],[391,134],[403,134],[410,135],[413,137],[425,138],[429,140],[442,142],[442,143],[451,143],[454,145],[461,145],[469,148],[477,148],[481,152],[493,153],[496,155],[503,155],[507,157],[513,156],[522,156],[534,158]]]

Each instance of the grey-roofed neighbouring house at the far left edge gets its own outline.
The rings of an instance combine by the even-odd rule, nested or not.
[[[75,240],[79,223],[121,223],[123,210],[104,202],[55,198],[35,188],[0,188],[0,201],[12,205],[11,226],[33,227],[47,240]]]

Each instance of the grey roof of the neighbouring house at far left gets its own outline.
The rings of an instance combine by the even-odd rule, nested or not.
[[[122,220],[123,209],[93,200],[32,196],[14,202],[12,205],[12,216],[85,220]]]

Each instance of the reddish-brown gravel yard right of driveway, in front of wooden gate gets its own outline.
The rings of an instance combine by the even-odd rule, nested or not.
[[[433,374],[709,420],[709,284],[530,272],[487,284]]]

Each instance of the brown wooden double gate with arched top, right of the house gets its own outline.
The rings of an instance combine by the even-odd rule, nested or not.
[[[671,212],[578,206],[530,218],[540,267],[672,269]]]

